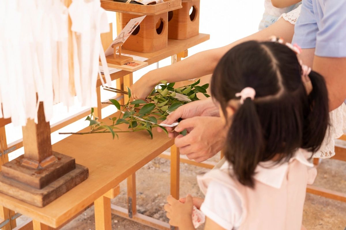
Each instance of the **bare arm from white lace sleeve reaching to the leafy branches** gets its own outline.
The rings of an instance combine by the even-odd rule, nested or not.
[[[264,41],[272,35],[281,37],[287,42],[291,42],[293,33],[294,25],[284,19],[279,19],[270,27],[227,46],[202,51],[170,66],[148,72],[131,86],[132,95],[135,99],[144,99],[151,93],[153,87],[162,80],[176,82],[211,74],[222,56],[224,56],[228,50],[242,42],[250,40]]]

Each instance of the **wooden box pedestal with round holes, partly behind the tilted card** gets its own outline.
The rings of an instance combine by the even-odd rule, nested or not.
[[[122,28],[124,28],[131,19],[138,17],[138,15],[129,13],[122,13],[121,15]],[[126,50],[142,53],[153,53],[167,48],[167,20],[167,12],[157,15],[147,15],[122,47]]]

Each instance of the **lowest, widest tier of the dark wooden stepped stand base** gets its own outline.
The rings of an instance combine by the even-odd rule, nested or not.
[[[43,189],[37,189],[9,179],[0,172],[0,192],[35,206],[44,207],[86,180],[88,176],[88,168],[76,164],[74,170],[66,173]]]

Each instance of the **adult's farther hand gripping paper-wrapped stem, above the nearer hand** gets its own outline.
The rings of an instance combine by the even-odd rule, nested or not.
[[[188,104],[184,104],[183,106],[177,108],[174,112],[172,112],[169,116],[167,116],[166,120],[162,122],[162,124],[172,124],[177,122],[179,118],[186,119],[197,116],[220,116],[218,106],[213,102],[211,98],[199,101],[193,101]],[[169,131],[169,137],[174,138],[178,136],[179,133],[172,132],[174,128],[167,127],[167,131]],[[158,132],[162,132],[162,129],[158,128]]]

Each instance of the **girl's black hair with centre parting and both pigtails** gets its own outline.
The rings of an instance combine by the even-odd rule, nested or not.
[[[230,101],[246,87],[254,100],[238,103],[227,135],[225,157],[238,181],[254,187],[257,164],[288,161],[298,148],[316,152],[329,125],[324,78],[311,71],[306,92],[297,55],[277,42],[248,41],[229,50],[218,63],[211,93],[227,118]]]

